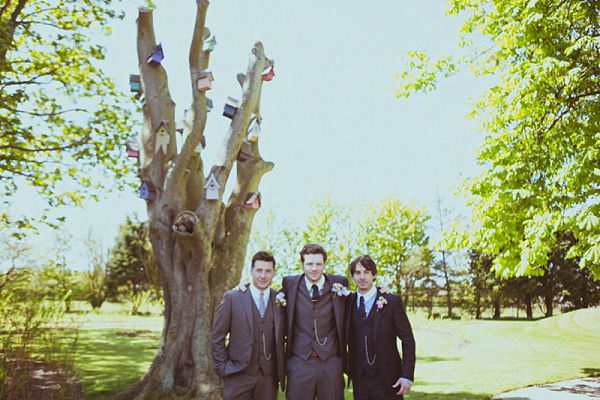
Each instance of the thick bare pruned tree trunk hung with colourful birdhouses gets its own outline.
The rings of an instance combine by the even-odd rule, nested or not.
[[[208,67],[210,51],[203,41],[210,32],[204,27],[208,2],[197,0],[198,10],[190,48],[192,105],[185,113],[183,145],[175,144],[174,103],[162,66],[146,63],[156,48],[152,12],[141,8],[138,18],[140,80],[146,98],[140,146],[140,178],[156,189],[147,200],[149,235],[160,272],[165,300],[164,326],[150,369],[122,398],[218,399],[220,380],[214,372],[210,352],[213,317],[225,290],[240,280],[255,209],[245,207],[246,196],[256,192],[262,176],[273,168],[258,153],[237,161],[242,142],[253,118],[260,121],[261,74],[273,62],[266,59],[256,42],[250,62],[242,75],[242,97],[229,130],[211,168],[217,180],[218,200],[204,195],[207,177],[198,145],[206,122],[205,93],[197,89],[200,72]],[[157,143],[157,129],[166,126],[166,149]],[[164,142],[163,142],[164,144]],[[228,203],[223,191],[233,165],[237,182]]]

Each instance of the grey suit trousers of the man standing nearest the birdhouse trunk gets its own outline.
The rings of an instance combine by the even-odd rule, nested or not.
[[[277,400],[277,373],[238,372],[223,379],[223,400]]]

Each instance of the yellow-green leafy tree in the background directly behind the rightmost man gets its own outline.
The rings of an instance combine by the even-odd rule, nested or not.
[[[392,196],[368,205],[361,216],[358,243],[377,263],[378,275],[391,278],[397,293],[404,292],[405,306],[415,280],[427,275],[433,259],[425,233],[429,219],[424,208]]]

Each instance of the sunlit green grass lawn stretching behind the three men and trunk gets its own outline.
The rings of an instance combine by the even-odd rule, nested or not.
[[[76,370],[85,398],[115,399],[150,366],[162,318],[82,318]],[[427,320],[420,314],[409,318],[417,366],[407,399],[485,399],[534,384],[600,375],[600,308],[536,321]],[[351,389],[346,399],[352,399]]]

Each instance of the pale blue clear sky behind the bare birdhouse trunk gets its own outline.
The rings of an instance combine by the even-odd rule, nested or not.
[[[112,25],[113,35],[95,40],[107,50],[105,72],[128,92],[129,74],[139,73],[136,18],[143,2],[121,4],[125,19]],[[164,49],[162,65],[181,118],[191,101],[187,60],[196,2],[158,0],[155,5],[155,36]],[[445,16],[445,8],[444,0],[210,3],[206,26],[217,45],[209,65],[215,81],[207,96],[215,108],[205,130],[205,170],[230,123],[222,116],[225,99],[240,98],[236,75],[246,71],[250,49],[261,41],[275,61],[275,78],[263,84],[261,98],[260,152],[275,163],[259,188],[263,212],[271,207],[277,215],[302,222],[311,201],[326,193],[344,205],[393,195],[432,212],[439,189],[445,206],[464,214],[464,202],[451,187],[461,176],[480,171],[475,149],[483,135],[466,114],[469,99],[481,93],[485,82],[463,73],[409,99],[397,99],[390,90],[394,74],[408,61],[407,51],[426,49],[434,56],[456,51],[460,19]],[[33,209],[34,201],[27,196],[15,206],[17,213]],[[146,218],[144,200],[135,190],[57,211],[66,216],[74,236],[74,256],[81,254],[75,242],[90,227],[111,246],[118,225],[134,212]]]

